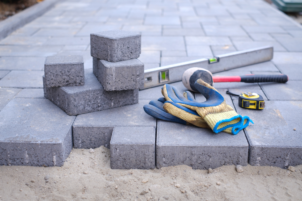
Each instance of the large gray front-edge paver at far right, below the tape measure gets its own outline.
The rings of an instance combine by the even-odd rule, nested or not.
[[[234,98],[234,102],[238,99]],[[237,100],[236,100],[237,99]],[[236,106],[239,114],[249,116],[254,124],[245,129],[249,142],[249,164],[276,166],[302,163],[301,101],[265,101],[265,108],[247,110]],[[296,130],[294,130],[296,128]],[[298,132],[297,132],[298,131]]]

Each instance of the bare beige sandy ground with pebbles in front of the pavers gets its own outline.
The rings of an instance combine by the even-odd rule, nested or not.
[[[0,167],[0,200],[301,200],[295,171],[234,165],[193,170],[186,165],[112,170],[109,149],[72,149],[62,167]],[[87,174],[86,174],[87,173]],[[47,179],[49,175],[49,179]],[[45,178],[46,177],[46,178]]]

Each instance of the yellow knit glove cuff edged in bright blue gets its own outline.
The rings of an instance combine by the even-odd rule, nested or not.
[[[230,127],[241,127],[243,124],[243,117],[237,114],[234,110],[221,112],[221,113],[210,113],[204,116],[204,120],[211,127],[213,132],[218,133]],[[237,134],[239,130],[232,129],[232,134]]]

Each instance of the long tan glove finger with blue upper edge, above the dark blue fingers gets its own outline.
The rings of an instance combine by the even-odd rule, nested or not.
[[[166,101],[163,105],[163,108],[170,114],[177,116],[188,123],[201,128],[210,129],[210,126],[208,126],[204,119],[202,119],[202,117],[199,116],[198,113],[196,113],[194,110],[190,110],[186,107],[174,103],[173,101]]]

